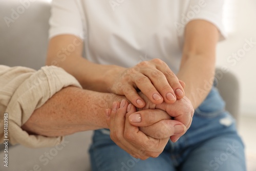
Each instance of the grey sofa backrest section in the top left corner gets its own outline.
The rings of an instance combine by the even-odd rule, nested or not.
[[[50,5],[46,0],[30,1],[0,0],[2,65],[33,69],[45,65]],[[23,5],[21,2],[29,3]]]

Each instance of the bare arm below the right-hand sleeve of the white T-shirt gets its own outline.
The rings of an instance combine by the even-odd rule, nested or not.
[[[196,109],[209,93],[215,74],[219,32],[205,20],[192,20],[185,29],[183,56],[178,78],[186,83],[186,97]]]

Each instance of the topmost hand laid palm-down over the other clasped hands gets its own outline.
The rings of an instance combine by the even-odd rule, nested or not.
[[[120,68],[117,73],[120,74],[113,76],[110,92],[125,95],[137,108],[145,105],[138,90],[154,104],[163,101],[171,104],[184,97],[184,82],[160,59],[142,61],[129,69]]]

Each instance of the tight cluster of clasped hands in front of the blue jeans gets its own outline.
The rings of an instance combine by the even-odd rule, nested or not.
[[[158,157],[169,139],[176,142],[191,125],[194,108],[184,96],[185,84],[166,66],[159,59],[141,62],[125,70],[113,85],[113,93],[132,103],[114,102],[112,110],[106,110],[110,137],[135,158]],[[123,86],[116,88],[118,82]],[[160,99],[154,98],[156,94]]]

